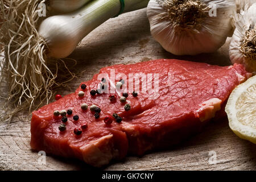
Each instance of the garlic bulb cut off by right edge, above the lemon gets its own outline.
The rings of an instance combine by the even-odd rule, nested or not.
[[[229,47],[232,63],[245,65],[247,71],[256,72],[256,3],[234,15],[236,29]]]

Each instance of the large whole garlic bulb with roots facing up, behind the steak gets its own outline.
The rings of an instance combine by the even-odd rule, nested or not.
[[[175,55],[214,52],[232,36],[233,0],[150,0],[151,34]]]

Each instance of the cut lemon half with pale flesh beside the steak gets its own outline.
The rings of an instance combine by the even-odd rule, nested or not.
[[[256,76],[233,90],[225,111],[234,133],[256,144]]]

